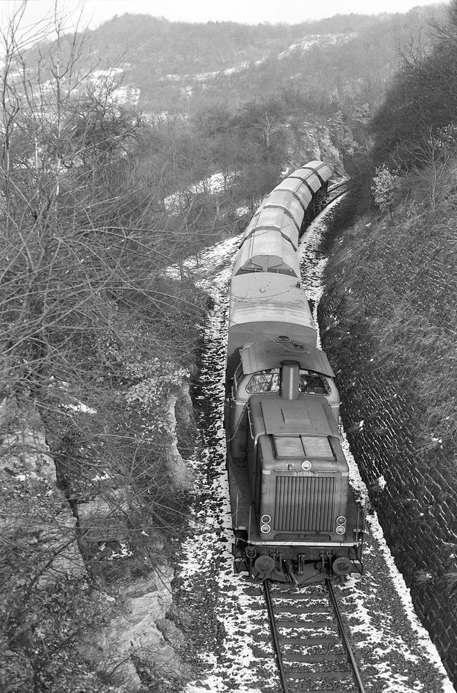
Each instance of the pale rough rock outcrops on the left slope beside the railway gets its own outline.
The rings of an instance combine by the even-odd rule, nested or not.
[[[190,426],[191,415],[188,384],[182,383],[170,396],[168,410],[173,442],[166,464],[175,489],[192,482],[175,444],[178,429]],[[123,693],[143,690],[144,683],[154,684],[154,690],[177,690],[193,675],[184,656],[188,642],[169,617],[174,570],[161,535],[150,531],[149,518],[143,531],[141,517],[137,526],[129,505],[132,489],[118,485],[122,478],[105,473],[94,480],[93,497],[68,502],[57,486],[39,415],[33,407],[21,410],[14,401],[3,401],[0,611],[10,609],[12,626],[0,629],[2,692],[30,690],[37,668],[44,680],[68,668],[75,678],[85,678],[87,691]],[[61,613],[57,597],[64,588]],[[16,638],[19,617],[25,625]],[[56,629],[55,642],[49,642],[53,617],[62,633]],[[66,666],[68,658],[73,669]],[[73,684],[70,674],[54,682],[59,690]]]

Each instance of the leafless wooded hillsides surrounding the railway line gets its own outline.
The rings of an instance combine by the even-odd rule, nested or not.
[[[340,230],[402,210],[440,233],[455,218],[457,1],[292,26],[125,14],[69,32],[56,17],[55,38],[32,46],[20,23],[18,10],[1,37],[0,686],[108,691],[75,643],[113,617],[116,581],[172,562],[188,530],[170,448],[178,435],[186,459],[198,445],[182,384],[197,378],[210,299],[183,261],[240,233],[314,158],[312,127],[350,176]],[[384,360],[428,364],[436,342],[411,351],[401,323],[386,333],[379,319]],[[451,446],[456,401],[440,383],[431,403],[418,396]],[[96,498],[123,527],[122,563],[84,531]]]

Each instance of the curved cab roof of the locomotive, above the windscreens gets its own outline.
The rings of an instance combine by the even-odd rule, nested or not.
[[[278,368],[280,362],[286,358],[293,358],[298,361],[303,369],[316,371],[329,378],[334,377],[327,356],[315,347],[302,346],[289,341],[258,342],[257,344],[248,344],[247,347],[241,349],[242,367],[246,374]]]

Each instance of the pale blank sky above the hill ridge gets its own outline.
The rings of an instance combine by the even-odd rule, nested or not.
[[[444,0],[450,2],[450,0]],[[114,15],[148,14],[170,21],[237,21],[298,24],[307,19],[360,12],[407,12],[415,6],[430,6],[433,0],[57,0],[60,11],[82,11],[82,24],[95,28]],[[1,24],[5,28],[19,0],[0,0]],[[28,0],[22,25],[34,25],[52,13],[55,0]]]

